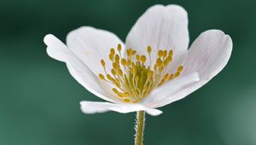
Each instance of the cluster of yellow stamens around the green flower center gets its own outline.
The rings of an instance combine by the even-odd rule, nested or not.
[[[107,72],[106,63],[101,61],[105,75],[99,74],[99,78],[113,84],[113,93],[123,102],[139,102],[148,96],[151,90],[159,87],[167,81],[177,78],[183,71],[183,66],[177,67],[176,73],[169,73],[166,67],[172,62],[172,49],[158,50],[154,67],[151,62],[151,47],[148,46],[148,62],[146,55],[138,55],[135,49],[126,49],[126,56],[121,55],[121,44],[117,50],[110,49],[109,61],[112,63],[111,73]]]

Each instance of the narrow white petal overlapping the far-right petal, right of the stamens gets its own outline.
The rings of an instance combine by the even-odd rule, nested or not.
[[[159,107],[161,106],[161,103],[163,103],[162,101],[165,100],[167,97],[172,97],[172,95],[175,94],[177,91],[183,90],[189,84],[195,84],[199,80],[200,78],[198,73],[191,73],[187,76],[175,78],[172,81],[163,84],[159,88],[152,90],[152,92],[148,96],[146,96],[140,103],[148,107]]]

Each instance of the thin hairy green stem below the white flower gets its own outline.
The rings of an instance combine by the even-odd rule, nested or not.
[[[143,135],[144,135],[144,126],[145,126],[145,112],[137,112],[137,125],[135,126],[135,145],[143,145]]]

